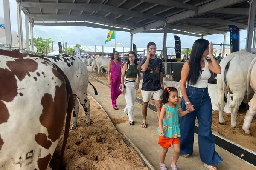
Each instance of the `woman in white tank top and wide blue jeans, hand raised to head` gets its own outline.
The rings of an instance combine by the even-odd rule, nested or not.
[[[209,46],[209,48],[208,48]],[[208,93],[208,79],[210,70],[215,74],[221,74],[221,67],[213,57],[212,42],[198,39],[194,42],[190,59],[181,71],[180,90],[182,93],[182,111],[190,110],[194,106],[195,111],[180,118],[180,154],[188,157],[193,153],[195,118],[198,118],[198,141],[201,161],[209,170],[217,170],[215,165],[221,161],[221,156],[215,151],[215,139],[212,135],[212,103]],[[207,61],[207,55],[211,60]],[[186,83],[188,83],[186,87]]]

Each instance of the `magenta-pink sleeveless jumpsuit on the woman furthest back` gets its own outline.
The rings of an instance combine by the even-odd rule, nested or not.
[[[121,61],[118,61],[117,65],[114,60],[111,59],[111,86],[110,86],[110,93],[111,93],[111,100],[113,108],[116,106],[116,99],[122,93],[119,91],[119,86],[121,84]]]

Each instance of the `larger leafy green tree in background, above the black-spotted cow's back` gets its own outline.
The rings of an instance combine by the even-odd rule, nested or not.
[[[31,39],[29,39],[31,42]],[[45,53],[49,53],[48,47],[50,47],[50,44],[54,42],[51,40],[51,38],[43,39],[42,37],[34,38],[34,46],[38,49],[37,54],[41,55],[41,50]],[[30,43],[31,44],[31,43]],[[45,51],[46,48],[46,51]]]

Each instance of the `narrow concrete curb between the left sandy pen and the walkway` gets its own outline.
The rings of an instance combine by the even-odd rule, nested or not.
[[[91,99],[93,99],[94,102],[97,103],[97,105],[99,105],[100,109],[103,109],[104,113],[106,113],[106,115],[108,116],[108,113],[104,110],[104,108],[102,107],[102,105],[100,105],[96,99],[93,98],[93,96],[91,96],[89,93],[88,95],[90,96]],[[110,117],[108,116],[108,119],[110,120],[112,126],[115,128],[116,132],[118,132],[118,130],[116,129],[115,125],[113,124],[113,122],[111,121]],[[128,138],[128,136],[123,132],[122,133],[124,135],[124,139],[122,139],[123,142],[125,142],[126,145],[131,146],[135,152],[140,156],[140,159],[142,161],[143,166],[148,167],[149,170],[155,170],[155,168],[153,167],[153,165],[148,161],[148,159],[146,159],[146,157],[143,155],[143,153],[140,152],[140,150],[137,148],[137,146]]]

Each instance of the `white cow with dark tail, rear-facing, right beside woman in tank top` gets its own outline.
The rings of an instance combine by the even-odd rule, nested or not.
[[[239,106],[246,96],[247,72],[250,63],[256,57],[255,54],[245,51],[239,51],[228,54],[221,62],[221,74],[217,74],[218,82],[218,107],[219,107],[219,123],[224,124],[223,110],[225,102],[227,102],[227,93],[233,95],[230,104],[231,108],[231,127],[236,127],[236,116]],[[248,93],[253,93],[249,88]]]

